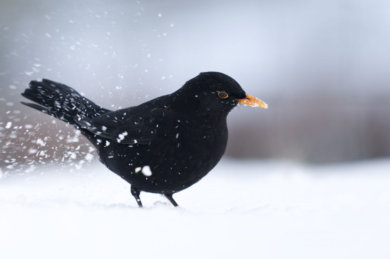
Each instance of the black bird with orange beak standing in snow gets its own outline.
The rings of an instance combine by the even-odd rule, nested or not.
[[[31,81],[21,102],[72,124],[96,147],[99,160],[140,191],[172,194],[215,167],[227,144],[227,114],[238,104],[267,108],[223,73],[205,72],[179,90],[138,106],[111,111],[62,83]]]

